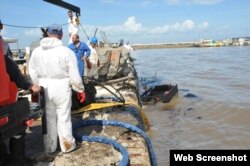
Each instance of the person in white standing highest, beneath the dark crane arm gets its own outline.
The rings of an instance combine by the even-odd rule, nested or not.
[[[78,17],[73,15],[73,12],[71,10],[68,11],[68,30],[69,30],[69,43],[72,43],[72,36],[73,34],[78,34],[79,28],[79,19]]]

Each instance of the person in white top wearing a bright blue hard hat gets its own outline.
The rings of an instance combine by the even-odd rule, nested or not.
[[[87,77],[93,77],[98,79],[98,66],[99,66],[99,59],[98,54],[96,52],[96,47],[98,46],[98,39],[96,37],[91,38],[90,40],[90,56],[89,61],[91,63],[91,68],[87,68]]]

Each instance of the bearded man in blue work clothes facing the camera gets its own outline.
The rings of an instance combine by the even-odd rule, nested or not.
[[[90,49],[89,47],[79,40],[78,34],[72,35],[72,42],[68,47],[74,51],[77,63],[78,63],[78,70],[80,73],[80,76],[83,77],[84,75],[84,63],[86,62],[87,67],[91,68],[91,64],[88,60],[88,57],[90,55]]]

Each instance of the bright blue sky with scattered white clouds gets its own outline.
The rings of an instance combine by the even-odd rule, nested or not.
[[[79,35],[131,44],[175,43],[201,39],[223,40],[250,36],[249,0],[64,0],[81,8]],[[67,23],[67,10],[43,0],[1,0],[4,24],[46,27]],[[65,44],[68,28],[63,25]],[[39,40],[39,28],[4,26],[2,36],[17,38],[20,47]]]

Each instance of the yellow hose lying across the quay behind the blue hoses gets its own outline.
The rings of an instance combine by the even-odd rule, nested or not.
[[[148,120],[147,115],[145,114],[145,112],[142,110],[142,108],[139,105],[137,105],[136,103],[133,103],[133,102],[125,102],[125,104],[120,103],[120,102],[92,103],[92,104],[89,104],[81,109],[72,111],[71,114],[75,115],[75,114],[79,114],[79,113],[83,113],[83,112],[87,112],[87,111],[100,110],[100,109],[114,107],[114,106],[120,106],[120,105],[129,105],[129,106],[135,107],[141,113],[143,125],[144,125],[146,131],[148,131],[150,129],[151,125],[150,125],[150,122]]]

